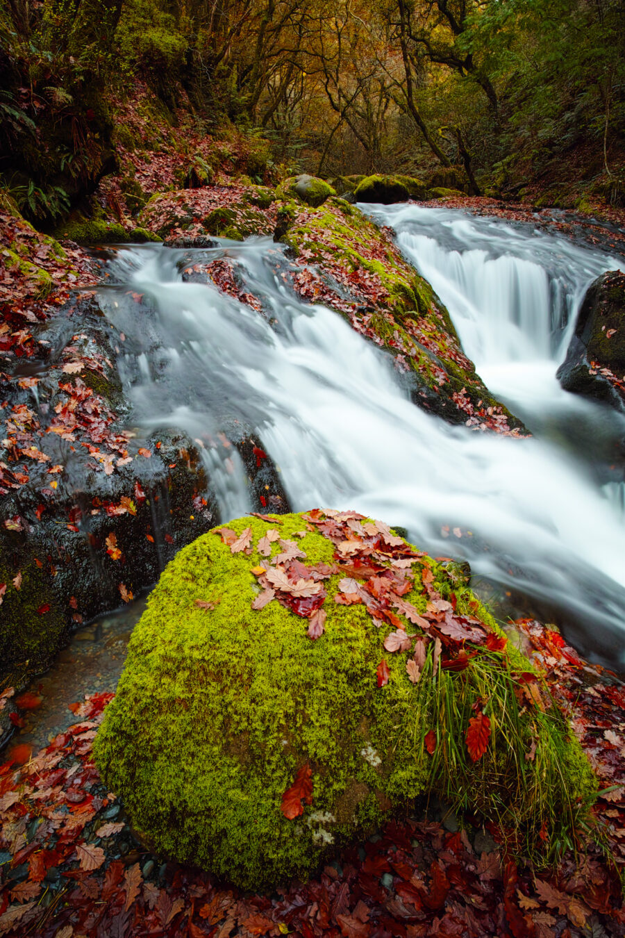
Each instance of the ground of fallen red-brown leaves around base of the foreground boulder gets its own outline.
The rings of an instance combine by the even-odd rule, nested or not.
[[[532,621],[521,628],[603,779],[606,793],[595,815],[622,870],[625,797],[622,786],[612,786],[625,773],[623,689],[557,633]],[[2,703],[9,698],[5,692]],[[92,762],[93,738],[111,699],[98,693],[71,704],[76,722],[66,732],[38,753],[14,747],[0,766],[1,935],[625,934],[618,876],[595,846],[567,855],[558,870],[532,872],[502,853],[497,829],[476,827],[474,818],[458,826],[439,805],[415,806],[409,819],[343,851],[307,884],[272,895],[243,894],[168,863],[133,838],[123,806]],[[22,712],[37,703],[32,695],[18,698]]]

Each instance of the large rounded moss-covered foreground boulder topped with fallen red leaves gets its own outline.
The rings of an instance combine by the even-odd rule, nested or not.
[[[257,889],[423,792],[528,845],[570,832],[595,782],[545,703],[469,589],[386,525],[245,518],[162,574],[95,756],[152,849]]]

